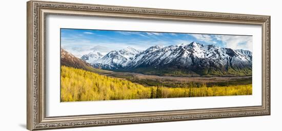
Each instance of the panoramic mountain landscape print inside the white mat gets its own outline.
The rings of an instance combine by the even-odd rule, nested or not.
[[[252,95],[252,36],[61,29],[61,102]]]

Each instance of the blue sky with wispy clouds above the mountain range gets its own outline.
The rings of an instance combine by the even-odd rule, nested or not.
[[[249,51],[252,51],[253,44],[252,36],[61,29],[61,47],[76,57],[93,51],[106,54],[129,46],[146,50],[155,45],[170,46],[192,41]]]

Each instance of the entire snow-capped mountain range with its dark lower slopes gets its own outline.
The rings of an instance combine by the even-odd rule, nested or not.
[[[152,46],[145,51],[128,47],[106,55],[92,52],[80,59],[94,68],[162,76],[252,75],[252,52],[202,45]]]

